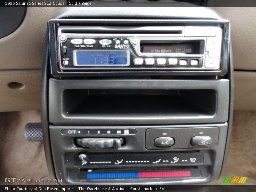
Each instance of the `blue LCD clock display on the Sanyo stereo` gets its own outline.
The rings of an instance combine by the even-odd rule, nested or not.
[[[77,65],[127,65],[126,51],[76,51]]]

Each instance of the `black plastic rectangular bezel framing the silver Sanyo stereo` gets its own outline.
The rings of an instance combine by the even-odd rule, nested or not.
[[[81,26],[81,25],[111,25],[123,26],[123,25],[172,25],[172,26],[187,26],[187,25],[209,25],[220,26],[223,28],[223,46],[222,46],[222,60],[220,64],[220,70],[122,70],[116,71],[108,69],[107,71],[99,70],[81,70],[81,71],[61,71],[58,61],[58,44],[57,44],[57,29],[58,26]],[[50,46],[50,60],[51,60],[51,73],[52,76],[159,76],[159,75],[225,75],[228,72],[228,53],[229,53],[229,28],[230,23],[227,20],[124,20],[124,19],[57,19],[48,21],[48,34],[49,34],[49,46]]]

